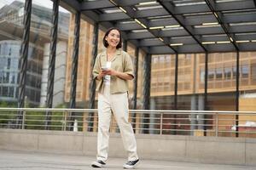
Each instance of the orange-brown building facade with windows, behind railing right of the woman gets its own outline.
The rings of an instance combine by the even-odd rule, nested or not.
[[[255,53],[244,52],[240,53],[239,61],[239,103],[236,104],[236,53],[216,53],[208,54],[207,62],[207,80],[206,74],[206,54],[178,54],[178,68],[177,68],[177,110],[182,111],[236,111],[238,105],[239,111],[255,111],[255,81],[253,81],[255,74]],[[152,75],[151,75],[151,107],[156,110],[173,110],[175,108],[174,99],[174,82],[175,82],[175,56],[173,56],[171,66],[163,65],[168,63],[166,55],[154,55],[152,59]],[[169,82],[168,88],[163,88],[165,79],[170,77],[166,71],[171,71],[173,75]],[[158,74],[158,71],[160,73]],[[207,81],[207,100],[205,100],[205,86]],[[170,84],[173,84],[173,86]],[[165,92],[165,94],[161,94]],[[183,129],[184,131],[176,134],[189,134],[186,130],[191,128],[201,129],[201,126],[189,126],[192,124],[201,124],[201,118],[207,119],[204,123],[214,124],[215,117],[197,116],[193,121],[190,118],[193,115],[183,116],[176,114],[167,117],[164,114],[163,127],[169,129],[163,133],[172,133],[170,129]],[[198,119],[199,118],[199,119]],[[219,123],[219,130],[230,129],[236,125],[236,116],[221,115],[218,117],[222,120]],[[254,120],[254,117],[250,117]],[[240,125],[248,120],[248,117],[239,116]],[[179,127],[179,124],[186,124],[187,126]],[[213,127],[206,126],[206,129],[211,130]],[[234,136],[234,133],[220,133],[220,136]]]

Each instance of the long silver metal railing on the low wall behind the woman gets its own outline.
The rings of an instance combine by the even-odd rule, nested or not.
[[[256,137],[256,111],[130,110],[129,119],[135,133]],[[95,109],[0,108],[0,128],[96,132],[97,121]],[[119,133],[114,117],[110,132]]]

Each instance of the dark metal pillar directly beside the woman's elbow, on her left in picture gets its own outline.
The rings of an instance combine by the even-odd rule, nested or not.
[[[93,44],[94,44],[94,48],[92,50],[92,58],[90,60],[90,89],[89,89],[89,95],[90,95],[90,99],[89,99],[89,108],[90,109],[94,109],[95,108],[95,95],[96,95],[96,80],[93,79],[92,76],[92,70],[93,70],[93,66],[95,64],[95,60],[96,60],[96,56],[97,56],[97,51],[98,51],[98,33],[99,33],[99,24],[96,23],[94,25],[94,30],[93,30]],[[94,113],[89,113],[89,127],[88,127],[88,131],[92,131],[92,127],[93,127],[93,122],[94,122]]]

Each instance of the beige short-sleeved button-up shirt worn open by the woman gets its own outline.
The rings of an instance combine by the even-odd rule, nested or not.
[[[107,51],[102,52],[96,56],[95,65],[93,68],[93,78],[97,80],[102,66],[107,63]],[[131,57],[125,51],[117,49],[113,59],[111,60],[111,68],[115,71],[124,72],[134,77],[133,64]],[[103,79],[97,80],[96,91],[102,92]],[[128,91],[128,81],[119,77],[111,76],[110,78],[110,94],[125,93]]]

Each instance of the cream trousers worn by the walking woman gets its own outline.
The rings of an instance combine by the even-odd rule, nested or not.
[[[102,93],[98,94],[98,137],[97,137],[97,160],[107,161],[109,127],[111,110],[119,125],[125,150],[128,153],[128,161],[138,159],[136,139],[128,122],[129,108],[128,96],[124,94],[110,94],[110,86],[103,85]]]

